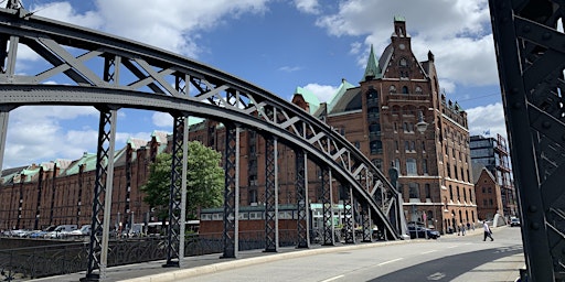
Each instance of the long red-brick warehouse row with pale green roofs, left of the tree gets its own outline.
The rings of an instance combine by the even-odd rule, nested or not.
[[[113,225],[139,223],[151,216],[140,186],[147,183],[149,163],[167,150],[167,133],[154,132],[151,141],[130,139],[116,151]],[[0,229],[42,229],[65,224],[92,223],[96,154],[76,161],[32,164],[2,172]],[[137,217],[137,218],[136,218]]]

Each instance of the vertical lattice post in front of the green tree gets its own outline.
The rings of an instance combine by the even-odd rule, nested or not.
[[[169,191],[169,226],[167,227],[167,263],[182,267],[184,258],[184,228],[186,220],[186,163],[189,118],[173,116],[171,186]]]

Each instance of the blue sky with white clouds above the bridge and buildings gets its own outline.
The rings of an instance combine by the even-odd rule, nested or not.
[[[3,7],[3,2],[2,7]],[[359,85],[371,45],[380,56],[395,15],[418,61],[435,55],[440,88],[467,111],[470,134],[507,137],[487,0],[22,0],[35,15],[143,42],[250,82],[290,100],[303,87],[329,101],[342,79]],[[36,55],[19,51],[17,72]],[[56,82],[52,82],[56,83]],[[3,169],[95,153],[93,107],[10,111]],[[172,132],[169,113],[120,109],[116,147]]]

